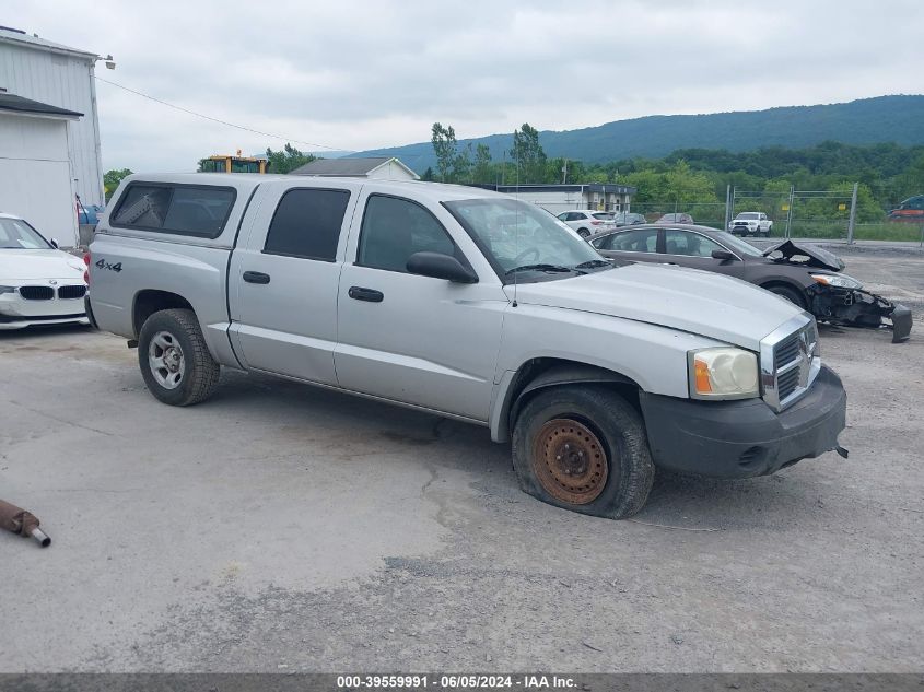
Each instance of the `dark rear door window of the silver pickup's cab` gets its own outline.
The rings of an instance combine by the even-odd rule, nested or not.
[[[348,190],[289,190],[276,208],[264,253],[332,262],[349,202]]]

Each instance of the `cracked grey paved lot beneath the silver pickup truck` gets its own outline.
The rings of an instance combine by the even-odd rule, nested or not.
[[[822,331],[849,460],[662,476],[633,521],[523,495],[486,430],[225,374],[174,409],[82,329],[0,335],[0,671],[924,668],[924,259],[847,257],[916,330]]]

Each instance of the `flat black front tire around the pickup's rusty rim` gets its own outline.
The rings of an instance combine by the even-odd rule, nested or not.
[[[576,424],[577,436],[599,442],[603,453],[601,460],[583,461],[586,470],[577,467],[573,483],[586,481],[590,490],[583,491],[584,485],[577,485],[578,493],[583,494],[576,502],[565,500],[563,495],[577,493],[554,480],[555,474],[569,473],[564,467],[570,460],[551,470],[562,456],[555,456],[555,460],[551,457],[568,448],[562,441],[571,438],[569,423]],[[592,434],[588,436],[582,430]],[[564,436],[555,447],[553,441],[559,431]],[[540,445],[547,435],[543,449]],[[590,443],[582,448],[592,450],[594,445]],[[570,454],[574,457],[575,453]],[[588,460],[593,456],[588,454]],[[598,465],[597,470],[594,464]],[[612,519],[630,517],[644,506],[655,471],[645,426],[638,411],[621,396],[601,386],[550,387],[529,399],[514,425],[513,466],[519,486],[534,497],[557,507]],[[600,472],[604,478],[595,478]],[[570,477],[565,483],[571,481]]]

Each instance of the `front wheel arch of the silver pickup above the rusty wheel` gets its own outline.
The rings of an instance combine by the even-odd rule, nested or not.
[[[580,361],[536,357],[523,363],[510,379],[499,402],[499,411],[491,415],[491,438],[494,442],[508,442],[517,414],[538,391],[578,383],[616,388],[641,412],[641,386],[631,377]]]

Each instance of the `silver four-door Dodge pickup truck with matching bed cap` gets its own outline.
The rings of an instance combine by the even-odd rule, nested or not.
[[[522,488],[627,517],[655,467],[773,473],[838,449],[811,315],[750,284],[605,260],[548,212],[430,183],[126,178],[87,315],[188,406],[221,366],[484,425]]]

